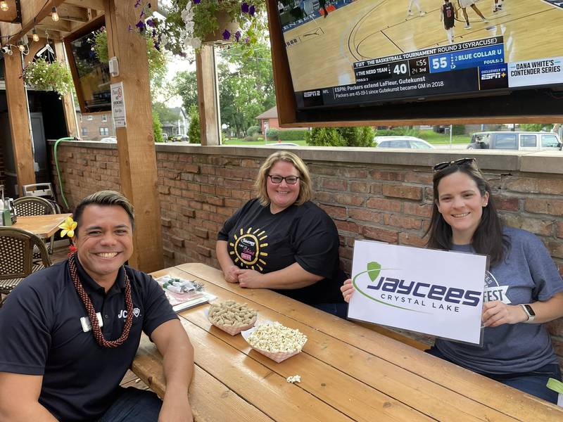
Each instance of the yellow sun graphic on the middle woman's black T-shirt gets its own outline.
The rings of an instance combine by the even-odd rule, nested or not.
[[[263,249],[268,244],[262,241],[267,237],[266,231],[262,229],[255,229],[253,231],[252,227],[249,227],[246,233],[244,229],[241,229],[238,235],[234,235],[234,243],[229,243],[231,248],[233,248],[229,255],[234,256],[234,263],[239,265],[239,267],[263,271],[263,266],[266,265],[264,259],[268,256]]]

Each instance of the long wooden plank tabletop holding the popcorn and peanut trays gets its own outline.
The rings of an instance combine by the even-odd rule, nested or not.
[[[180,320],[195,349],[189,397],[196,421],[563,421],[563,409],[270,290],[243,289],[205,264],[156,271],[203,281],[217,302],[247,302],[308,336],[277,364],[205,317]],[[146,336],[132,371],[163,397],[162,357]],[[286,382],[300,375],[301,383]]]

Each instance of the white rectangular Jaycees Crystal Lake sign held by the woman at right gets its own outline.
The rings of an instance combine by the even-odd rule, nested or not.
[[[348,318],[479,345],[487,257],[355,241]]]

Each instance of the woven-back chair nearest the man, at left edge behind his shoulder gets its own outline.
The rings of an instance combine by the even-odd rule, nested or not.
[[[34,262],[34,250],[39,252],[40,262]],[[15,227],[0,226],[0,307],[20,281],[49,266],[49,252],[37,235]],[[4,298],[2,295],[5,295]]]

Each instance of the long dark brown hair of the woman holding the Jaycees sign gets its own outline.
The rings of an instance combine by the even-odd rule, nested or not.
[[[432,207],[432,217],[430,226],[426,234],[430,234],[427,247],[434,249],[450,250],[452,248],[452,228],[450,224],[445,222],[441,213],[438,211],[438,184],[440,181],[450,174],[462,172],[471,177],[479,189],[481,196],[488,192],[488,203],[483,207],[483,215],[481,221],[471,241],[471,245],[476,253],[488,255],[491,267],[502,261],[505,252],[510,248],[508,239],[502,235],[502,220],[500,219],[495,207],[495,201],[491,195],[491,187],[483,177],[481,170],[477,167],[475,161],[464,162],[462,164],[454,163],[445,167],[443,170],[436,172],[432,179],[434,186],[434,206]],[[426,236],[425,234],[425,236]]]

